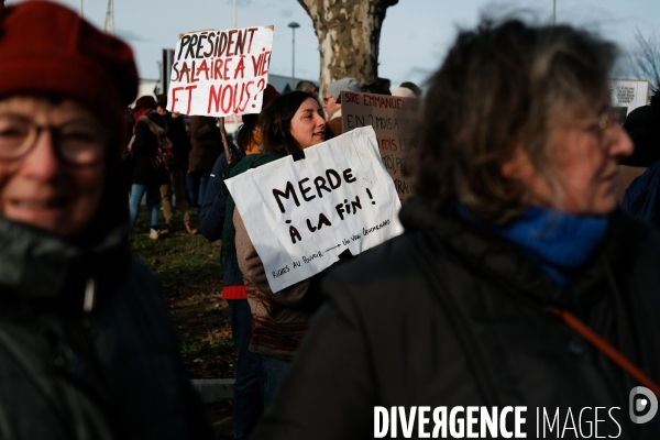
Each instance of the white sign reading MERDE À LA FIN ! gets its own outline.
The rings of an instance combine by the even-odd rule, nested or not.
[[[403,232],[371,127],[226,182],[273,292]]]

